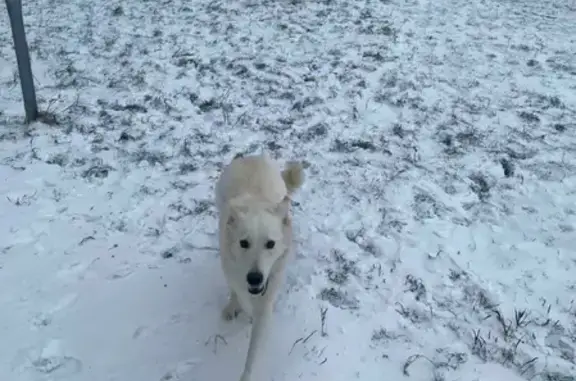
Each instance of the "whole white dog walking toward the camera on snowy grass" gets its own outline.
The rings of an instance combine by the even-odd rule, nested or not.
[[[236,156],[216,183],[220,258],[230,288],[222,316],[244,311],[252,332],[240,381],[252,381],[254,362],[267,332],[276,293],[292,247],[291,195],[304,182],[299,162],[280,170],[265,152]]]

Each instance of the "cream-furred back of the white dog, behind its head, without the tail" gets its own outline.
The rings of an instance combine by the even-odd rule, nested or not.
[[[282,172],[268,154],[237,157],[223,170],[216,184],[216,205],[222,210],[238,198],[277,204],[287,193]]]

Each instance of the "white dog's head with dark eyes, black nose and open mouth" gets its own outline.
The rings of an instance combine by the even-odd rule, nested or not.
[[[230,205],[228,252],[253,295],[266,293],[272,266],[288,249],[289,208],[288,197],[278,204],[239,200]]]

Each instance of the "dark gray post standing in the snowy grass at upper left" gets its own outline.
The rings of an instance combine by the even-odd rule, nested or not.
[[[10,18],[10,27],[12,28],[12,39],[14,40],[14,50],[16,51],[16,60],[18,61],[20,86],[22,87],[24,109],[26,110],[26,122],[30,123],[38,117],[38,103],[36,101],[34,78],[32,77],[32,68],[30,66],[30,52],[24,30],[22,0],[6,0],[6,8],[8,8],[8,17]]]

